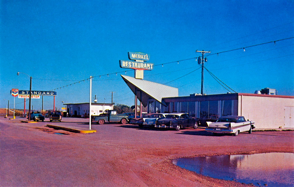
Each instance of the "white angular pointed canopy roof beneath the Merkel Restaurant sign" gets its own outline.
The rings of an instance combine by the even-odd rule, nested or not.
[[[148,99],[155,99],[166,106],[166,103],[162,100],[163,97],[178,97],[178,88],[125,75],[121,75],[121,77],[134,94],[137,87],[137,97],[144,107],[148,105]],[[140,91],[142,91],[142,100],[140,98]]]

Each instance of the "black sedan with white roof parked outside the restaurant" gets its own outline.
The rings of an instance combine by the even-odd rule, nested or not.
[[[198,128],[198,123],[195,118],[190,117],[188,113],[175,112],[166,115],[164,119],[156,121],[154,127],[158,128],[174,128],[179,131],[181,128],[193,127]]]

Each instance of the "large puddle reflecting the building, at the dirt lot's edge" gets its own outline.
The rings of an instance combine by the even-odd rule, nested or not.
[[[294,186],[293,153],[180,158],[173,164],[201,175],[255,186]]]

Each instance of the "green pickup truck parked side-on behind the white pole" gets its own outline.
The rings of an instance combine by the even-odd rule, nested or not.
[[[120,122],[121,124],[126,124],[128,116],[126,114],[117,114],[116,110],[105,110],[99,116],[92,116],[92,122],[97,124],[104,124],[105,122]]]

